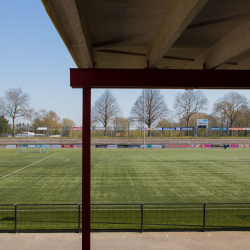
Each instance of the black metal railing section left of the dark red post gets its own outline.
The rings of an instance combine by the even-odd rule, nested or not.
[[[81,232],[82,204],[0,205],[0,232]]]

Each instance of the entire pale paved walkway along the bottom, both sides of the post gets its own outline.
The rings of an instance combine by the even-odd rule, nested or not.
[[[77,233],[0,234],[0,250],[80,250]],[[250,232],[92,233],[91,250],[249,250]]]

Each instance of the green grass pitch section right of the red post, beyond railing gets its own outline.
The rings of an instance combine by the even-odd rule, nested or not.
[[[91,203],[250,202],[250,149],[94,149]]]

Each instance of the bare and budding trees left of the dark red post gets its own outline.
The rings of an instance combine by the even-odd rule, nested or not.
[[[9,121],[12,120],[12,127]],[[30,123],[17,123],[16,118],[22,117]],[[41,109],[36,112],[30,108],[30,95],[24,93],[21,88],[9,89],[5,92],[4,97],[0,98],[0,135],[12,133],[15,136],[16,130],[19,132],[29,131],[31,128],[47,127],[54,129],[53,133],[57,133],[59,129],[71,129],[75,127],[73,120],[68,118],[61,118],[56,114],[55,111],[46,111]],[[63,136],[68,136],[69,131],[64,130]]]

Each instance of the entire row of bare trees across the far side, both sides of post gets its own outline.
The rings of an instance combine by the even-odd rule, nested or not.
[[[105,135],[108,126],[129,130],[132,125],[142,127],[143,119],[148,128],[195,127],[196,119],[208,119],[211,127],[250,127],[249,101],[244,95],[235,91],[225,94],[213,104],[211,113],[206,113],[208,103],[201,90],[185,90],[176,94],[174,112],[171,113],[159,89],[145,89],[132,106],[130,116],[122,117],[117,99],[110,90],[106,90],[91,109],[91,126],[94,128],[101,124],[105,128]],[[12,119],[12,128],[6,117]],[[23,117],[30,123],[16,124],[18,117]],[[175,118],[174,121],[172,118]],[[73,120],[61,120],[52,110],[41,109],[36,112],[30,108],[30,96],[21,88],[9,89],[0,98],[0,134],[12,130],[14,136],[16,128],[27,131],[32,127],[53,128],[54,133],[57,133],[56,130],[71,129],[74,126]],[[67,136],[69,131],[65,130],[63,133]]]

